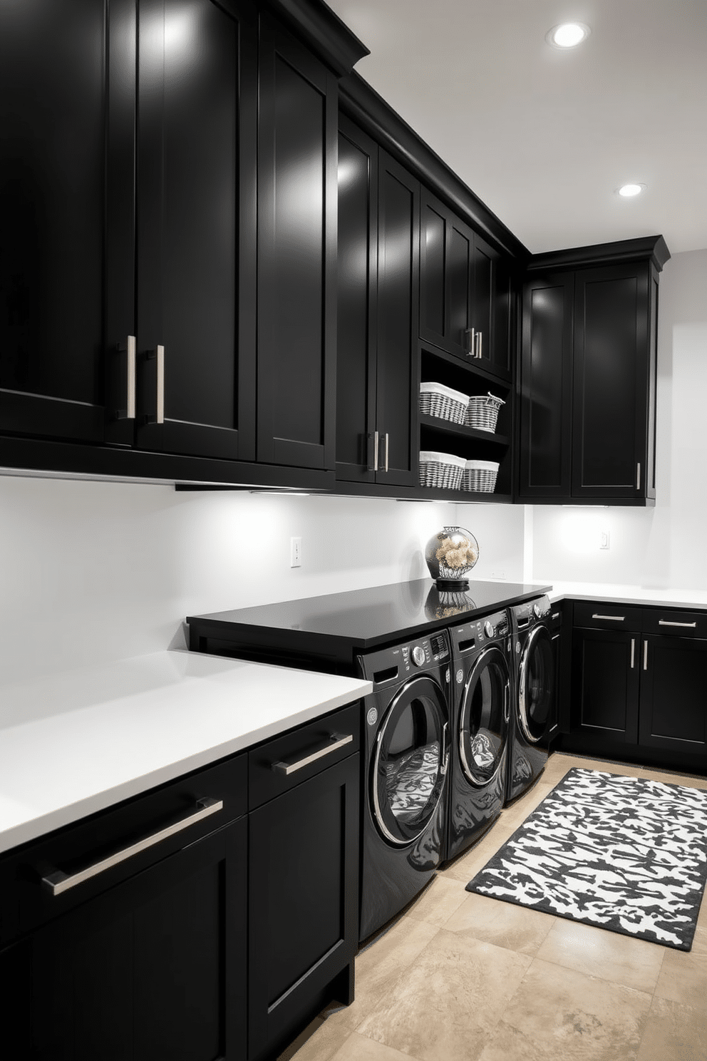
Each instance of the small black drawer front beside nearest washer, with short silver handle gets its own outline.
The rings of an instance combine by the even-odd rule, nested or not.
[[[358,751],[360,702],[268,741],[248,754],[252,811]]]

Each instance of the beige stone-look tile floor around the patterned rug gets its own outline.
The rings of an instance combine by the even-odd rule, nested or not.
[[[464,885],[571,766],[707,779],[566,754],[356,958],[356,1001],[281,1061],[705,1061],[707,901],[689,953],[524,909]]]

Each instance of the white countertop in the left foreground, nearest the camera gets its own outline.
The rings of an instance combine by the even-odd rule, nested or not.
[[[311,721],[368,681],[172,650],[0,688],[0,851]]]

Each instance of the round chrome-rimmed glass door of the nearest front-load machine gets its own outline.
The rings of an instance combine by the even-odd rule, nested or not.
[[[442,797],[447,709],[429,677],[404,685],[383,719],[375,745],[372,798],[376,824],[391,843],[425,831]]]

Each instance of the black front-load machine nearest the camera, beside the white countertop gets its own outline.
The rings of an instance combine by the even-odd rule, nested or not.
[[[359,939],[424,888],[444,857],[449,747],[446,630],[359,657],[364,699]]]

